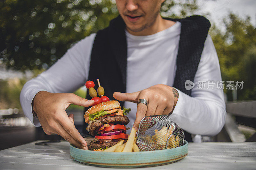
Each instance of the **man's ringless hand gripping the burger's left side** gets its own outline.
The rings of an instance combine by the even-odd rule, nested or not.
[[[33,110],[48,135],[58,134],[78,148],[88,150],[86,141],[74,125],[74,115],[69,116],[66,109],[71,105],[88,107],[94,103],[74,93],[50,93],[41,91],[34,98]]]

